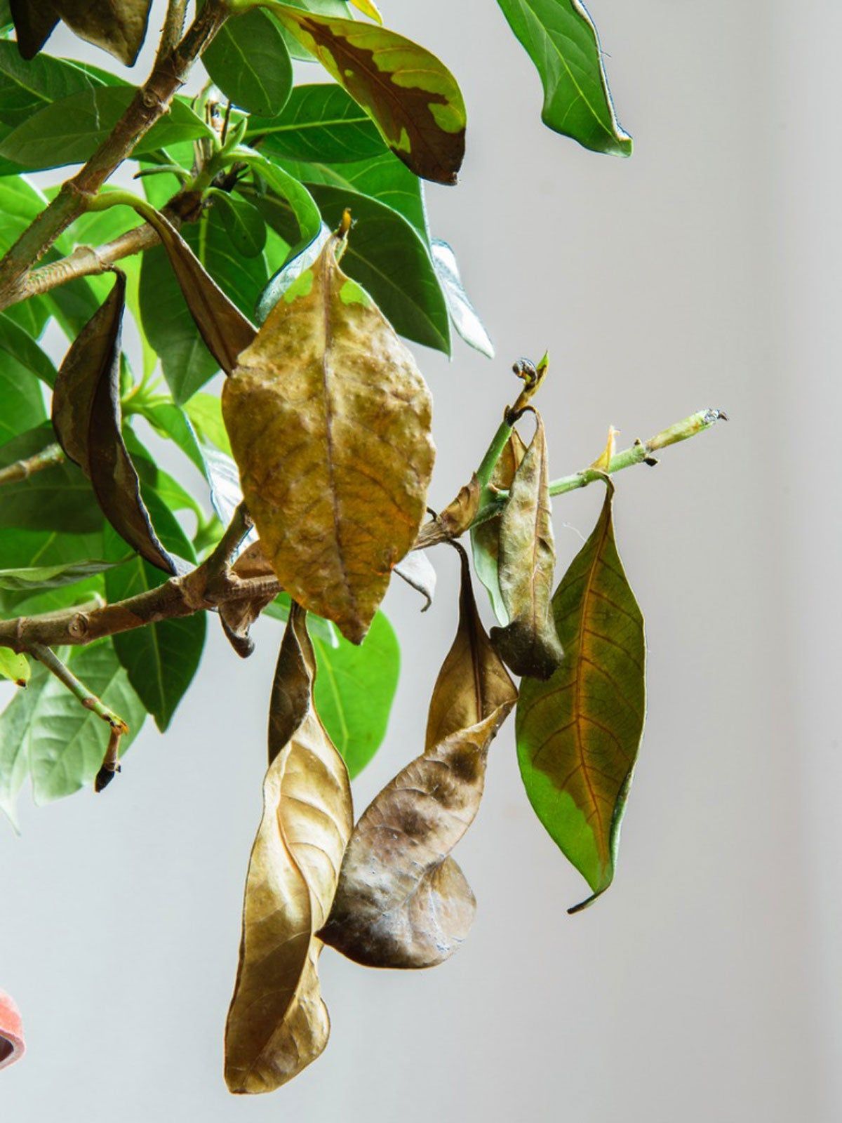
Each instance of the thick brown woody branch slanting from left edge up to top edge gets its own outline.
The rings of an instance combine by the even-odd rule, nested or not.
[[[88,200],[95,195],[137,141],[168,111],[170,103],[184,84],[191,66],[227,16],[225,0],[207,0],[181,43],[164,57],[156,60],[152,74],[137,91],[111,134],[84,167],[62,185],[55,199],[0,261],[0,309],[21,299],[16,293],[27,270],[79,218],[85,210]]]

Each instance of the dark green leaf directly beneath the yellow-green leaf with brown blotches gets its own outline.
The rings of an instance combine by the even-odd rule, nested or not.
[[[327,164],[367,159],[386,147],[368,113],[332,83],[296,85],[275,117],[250,117],[246,139],[256,137],[273,158]]]

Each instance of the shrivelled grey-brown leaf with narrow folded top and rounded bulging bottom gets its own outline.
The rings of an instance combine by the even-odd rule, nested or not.
[[[477,813],[488,746],[518,692],[479,621],[459,553],[459,627],[433,690],[424,752],[354,828],[320,932],[368,967],[442,962],[464,942],[476,911],[450,851]]]

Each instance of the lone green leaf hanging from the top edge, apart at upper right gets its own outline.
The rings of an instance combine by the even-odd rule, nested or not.
[[[585,148],[631,156],[632,138],[614,115],[596,28],[579,0],[498,0],[538,67],[541,118]]]

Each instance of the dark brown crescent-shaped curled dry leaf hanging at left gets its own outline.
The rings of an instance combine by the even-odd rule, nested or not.
[[[140,481],[122,439],[120,337],[126,276],[82,328],[53,389],[53,428],[67,457],[91,481],[102,513],[147,562],[176,573],[140,495]]]

